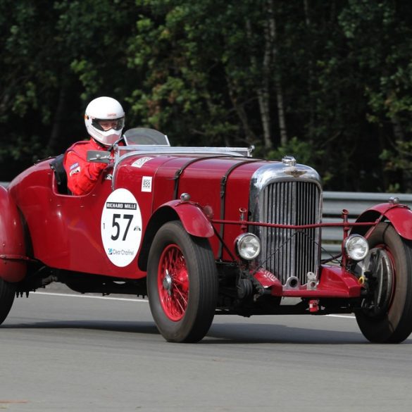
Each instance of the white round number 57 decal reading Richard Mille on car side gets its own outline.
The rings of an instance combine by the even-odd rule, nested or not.
[[[142,213],[127,189],[116,189],[104,202],[101,240],[113,265],[123,268],[135,258],[142,240]]]

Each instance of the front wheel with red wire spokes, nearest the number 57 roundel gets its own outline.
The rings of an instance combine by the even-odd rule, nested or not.
[[[211,327],[218,296],[216,263],[207,239],[179,221],[163,225],[149,252],[151,314],[168,342],[198,342]]]

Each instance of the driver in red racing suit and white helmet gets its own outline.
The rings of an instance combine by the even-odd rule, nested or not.
[[[125,126],[125,111],[111,97],[98,97],[86,108],[85,125],[91,139],[77,142],[65,152],[63,166],[68,176],[68,189],[72,194],[89,193],[106,163],[87,161],[87,151],[107,150],[120,139]]]

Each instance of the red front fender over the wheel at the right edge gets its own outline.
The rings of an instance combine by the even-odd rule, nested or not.
[[[377,204],[363,212],[356,222],[371,222],[380,216],[385,216],[401,237],[412,240],[412,211],[408,206],[389,203]]]

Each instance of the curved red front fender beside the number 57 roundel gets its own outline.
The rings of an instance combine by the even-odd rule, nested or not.
[[[196,237],[212,237],[213,225],[196,204],[189,201],[168,201],[159,207],[147,224],[142,249],[139,253],[139,268],[146,271],[151,242],[159,228],[170,220],[179,219],[187,233]]]

